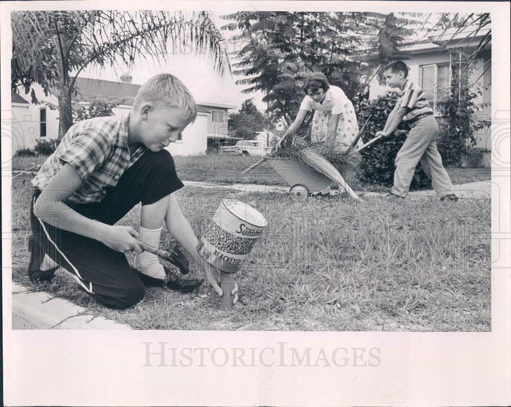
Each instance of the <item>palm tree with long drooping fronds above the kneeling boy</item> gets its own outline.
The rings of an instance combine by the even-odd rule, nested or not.
[[[75,81],[85,67],[100,69],[137,58],[167,59],[169,47],[205,54],[215,71],[230,73],[225,43],[209,13],[169,11],[17,11],[11,14],[11,88],[57,89],[59,139],[73,125]]]

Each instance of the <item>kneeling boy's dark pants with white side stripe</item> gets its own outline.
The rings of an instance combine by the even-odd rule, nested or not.
[[[68,206],[90,219],[113,225],[138,202],[149,205],[174,192],[176,188],[169,184],[172,173],[175,174],[174,163],[168,151],[146,151],[124,171],[115,187],[106,188],[101,202],[68,203]],[[175,176],[172,178],[176,179]],[[41,259],[43,253],[48,254],[73,275],[83,291],[102,305],[122,309],[141,301],[145,287],[140,273],[130,267],[126,255],[98,240],[59,229],[36,218],[34,202],[40,193],[36,188],[30,207],[32,238],[29,244],[32,251],[39,251]]]

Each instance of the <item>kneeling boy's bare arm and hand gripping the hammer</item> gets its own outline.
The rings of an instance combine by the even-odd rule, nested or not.
[[[76,168],[69,163],[64,164],[37,198],[34,215],[57,228],[99,240],[118,252],[134,250],[141,253],[142,249],[135,241],[138,233],[132,227],[98,222],[66,205],[65,202],[82,184]]]

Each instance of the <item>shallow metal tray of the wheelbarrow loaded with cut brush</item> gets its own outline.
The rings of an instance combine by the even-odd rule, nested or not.
[[[293,158],[266,157],[266,162],[282,176],[290,187],[300,184],[309,193],[326,190],[332,179]]]

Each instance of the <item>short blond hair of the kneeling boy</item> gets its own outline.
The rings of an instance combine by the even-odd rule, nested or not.
[[[160,107],[180,107],[191,122],[197,117],[197,105],[192,94],[172,74],[158,74],[149,78],[138,89],[133,108],[140,106],[143,102],[151,102]]]

